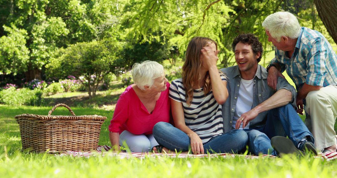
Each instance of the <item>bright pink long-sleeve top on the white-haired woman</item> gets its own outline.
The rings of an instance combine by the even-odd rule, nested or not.
[[[171,103],[168,98],[170,83],[166,83],[166,88],[160,93],[152,113],[149,113],[131,85],[128,86],[119,96],[109,131],[122,133],[127,130],[135,135],[149,135],[152,134],[153,126],[157,122],[170,122]]]

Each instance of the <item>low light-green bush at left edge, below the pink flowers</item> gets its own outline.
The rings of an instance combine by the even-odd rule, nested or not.
[[[9,87],[0,91],[0,102],[12,106],[40,106],[42,103],[42,90],[38,88],[30,90],[29,88],[16,89],[15,87]]]

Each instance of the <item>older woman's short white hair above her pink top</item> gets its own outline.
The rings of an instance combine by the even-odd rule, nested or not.
[[[144,61],[132,66],[133,82],[142,90],[145,86],[152,87],[154,79],[164,75],[164,67],[155,61]]]

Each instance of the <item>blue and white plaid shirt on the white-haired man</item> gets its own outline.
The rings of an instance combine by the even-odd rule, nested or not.
[[[302,27],[291,59],[288,52],[275,48],[281,72],[286,70],[299,90],[304,83],[313,86],[337,85],[337,55],[328,40],[318,31]]]

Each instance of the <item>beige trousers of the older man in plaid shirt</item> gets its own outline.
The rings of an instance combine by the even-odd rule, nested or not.
[[[305,125],[315,139],[317,150],[336,144],[337,86],[326,86],[307,95]]]

